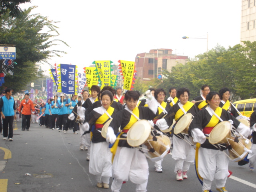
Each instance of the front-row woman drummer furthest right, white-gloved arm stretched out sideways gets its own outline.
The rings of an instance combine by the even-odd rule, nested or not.
[[[194,142],[201,144],[198,150],[198,173],[203,178],[203,192],[210,191],[214,178],[216,179],[217,190],[227,192],[225,184],[229,175],[228,157],[224,153],[228,151],[226,148],[220,150],[210,144],[208,136],[214,126],[221,122],[219,118],[223,121],[230,121],[236,130],[245,137],[248,137],[252,132],[250,128],[240,123],[234,116],[219,107],[219,93],[209,92],[206,96],[206,102],[209,106],[196,114],[189,127]]]

